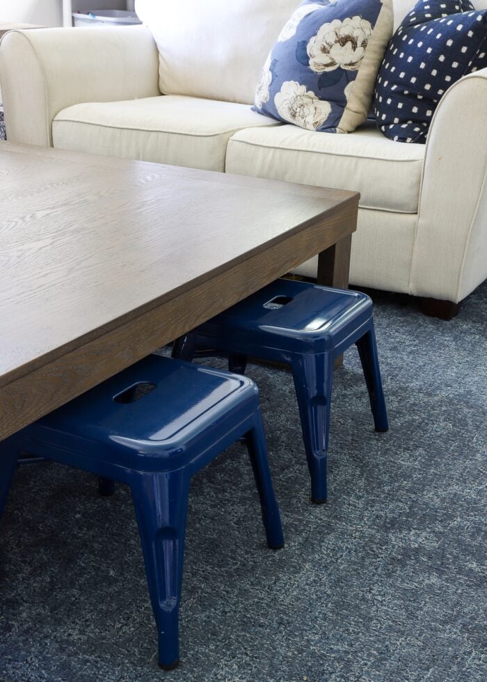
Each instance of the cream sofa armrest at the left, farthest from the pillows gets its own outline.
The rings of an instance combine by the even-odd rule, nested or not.
[[[0,42],[8,140],[49,147],[59,111],[160,95],[158,71],[145,26],[10,31]]]

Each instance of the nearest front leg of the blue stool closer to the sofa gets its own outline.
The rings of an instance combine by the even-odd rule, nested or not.
[[[326,466],[330,403],[333,388],[333,355],[296,354],[292,370],[301,429],[311,477],[311,500],[326,502]]]

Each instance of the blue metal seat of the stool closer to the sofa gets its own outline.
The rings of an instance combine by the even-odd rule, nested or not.
[[[198,334],[224,342],[238,332],[239,341],[256,349],[340,355],[350,333],[371,318],[366,294],[279,279],[200,325]]]

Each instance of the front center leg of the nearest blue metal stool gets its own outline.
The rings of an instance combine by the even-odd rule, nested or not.
[[[159,665],[179,663],[178,615],[189,481],[176,472],[138,474],[130,484],[159,635]]]

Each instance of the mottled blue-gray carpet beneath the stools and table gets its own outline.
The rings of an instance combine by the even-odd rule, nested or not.
[[[287,544],[266,549],[241,445],[191,489],[181,658],[157,667],[127,489],[23,465],[0,525],[0,680],[482,681],[487,286],[452,322],[374,294],[391,430],[354,349],[335,375],[328,505],[308,501],[292,378],[260,385]]]

